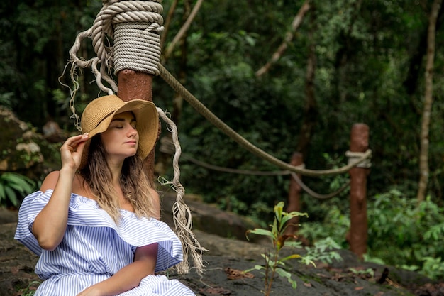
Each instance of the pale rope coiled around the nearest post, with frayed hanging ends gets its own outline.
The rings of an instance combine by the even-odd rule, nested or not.
[[[96,76],[96,84],[101,91],[107,94],[118,92],[118,85],[112,77],[124,69],[136,72],[145,72],[150,75],[159,75],[160,62],[160,33],[163,30],[163,8],[160,0],[148,1],[118,1],[104,0],[104,6],[96,16],[93,26],[81,32],[70,50],[72,67],[70,76],[74,84],[71,90],[70,107],[75,114],[74,97],[79,89],[77,82],[77,67],[91,67]],[[89,60],[77,57],[80,45],[84,38],[91,38],[96,57]],[[112,71],[113,70],[113,71]],[[103,81],[109,84],[106,87]],[[111,87],[111,88],[110,88]],[[189,207],[184,202],[184,187],[179,182],[179,156],[181,153],[177,128],[162,109],[157,108],[160,117],[167,122],[172,131],[175,155],[173,158],[174,177],[172,182],[166,182],[177,192],[173,206],[175,231],[182,241],[184,261],[175,266],[178,273],[189,272],[189,257],[194,262],[197,273],[203,273],[204,264],[199,241],[192,232],[192,216]],[[78,125],[78,121],[77,124]]]

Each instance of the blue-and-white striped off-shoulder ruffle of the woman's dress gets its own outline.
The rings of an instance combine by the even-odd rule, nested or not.
[[[34,192],[25,199],[18,212],[18,224],[15,238],[30,251],[40,256],[37,239],[31,229],[38,213],[45,207],[52,195],[52,190]],[[68,213],[68,226],[106,227],[133,247],[158,244],[156,272],[165,270],[182,261],[182,243],[170,226],[157,219],[139,218],[133,212],[121,211],[119,224],[113,221],[106,211],[100,209],[94,200],[72,194]]]

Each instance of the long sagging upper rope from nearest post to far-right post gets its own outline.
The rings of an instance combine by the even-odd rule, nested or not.
[[[325,175],[338,175],[341,173],[348,172],[350,168],[353,168],[359,163],[362,163],[364,160],[370,158],[372,155],[372,150],[367,150],[357,160],[348,163],[348,165],[344,165],[342,168],[335,168],[331,170],[309,170],[306,168],[299,168],[294,165],[290,165],[289,163],[284,163],[282,160],[279,160],[275,158],[273,155],[270,155],[266,153],[264,150],[258,148],[257,146],[254,146],[248,140],[243,138],[243,136],[240,136],[239,133],[236,133],[233,130],[233,128],[227,126],[223,121],[221,121],[221,119],[219,119],[209,109],[207,109],[206,106],[204,106],[204,104],[199,102],[199,100],[196,99],[196,97],[194,97],[193,94],[190,93],[182,84],[180,84],[180,82],[177,81],[176,78],[174,78],[174,76],[172,76],[171,73],[168,72],[168,70],[165,69],[165,67],[163,67],[161,64],[159,64],[159,69],[160,69],[160,77],[162,77],[165,80],[165,82],[167,82],[167,84],[170,84],[170,87],[172,87],[176,92],[181,94],[182,97],[184,97],[184,99],[187,100],[187,102],[191,104],[193,108],[196,109],[196,111],[198,111],[202,116],[204,116],[208,121],[210,121],[211,124],[216,126],[227,136],[232,138],[240,146],[243,146],[243,148],[245,148],[246,150],[250,151],[254,155],[257,155],[263,160],[267,160],[269,163],[277,165],[277,167],[282,168],[283,170],[289,170],[292,172],[297,172],[301,175],[307,175],[312,177],[319,177]]]

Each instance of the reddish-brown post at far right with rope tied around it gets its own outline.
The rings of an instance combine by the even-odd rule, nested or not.
[[[350,152],[363,153],[368,149],[369,127],[354,124],[350,133]],[[350,169],[350,231],[347,235],[350,251],[358,258],[367,252],[367,175],[369,168],[359,165]]]

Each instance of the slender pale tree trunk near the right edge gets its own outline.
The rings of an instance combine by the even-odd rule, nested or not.
[[[430,18],[428,22],[427,35],[427,61],[426,61],[426,89],[424,94],[423,117],[421,123],[421,151],[419,155],[419,182],[418,194],[416,198],[418,202],[422,202],[427,194],[428,183],[428,131],[430,126],[430,116],[433,104],[433,59],[435,57],[435,31],[436,19],[440,11],[443,0],[433,1]]]

